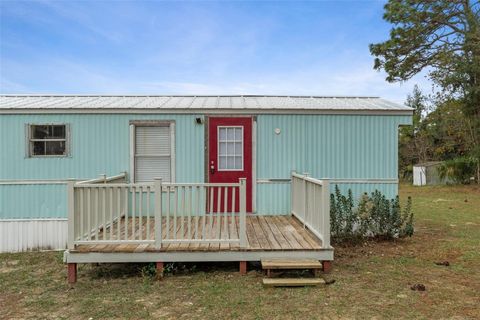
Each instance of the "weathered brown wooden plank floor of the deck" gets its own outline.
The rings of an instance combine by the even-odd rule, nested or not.
[[[230,221],[225,219],[232,219],[231,217],[203,217],[211,219],[209,223],[204,224],[199,221],[202,218],[196,217],[184,218],[180,220],[177,218],[177,222],[169,221],[168,237],[173,238],[174,233],[178,239],[201,239],[206,234],[209,238],[210,235],[216,235],[218,232],[229,233],[225,235],[225,238],[238,237],[238,218],[233,226],[229,229]],[[190,219],[190,221],[188,221]],[[166,229],[166,218],[163,219],[162,224],[164,230]],[[172,220],[172,219],[170,219]],[[182,222],[183,221],[183,222]],[[107,228],[98,233],[98,236],[92,236],[92,240],[104,239],[116,239],[118,236],[120,239],[125,239],[125,231],[127,232],[128,239],[154,239],[154,221],[144,218],[141,221],[142,228],[139,228],[140,221],[135,219],[135,226],[133,227],[131,218],[127,221],[127,228],[125,228],[125,219],[122,219],[120,224],[115,223],[112,229]],[[183,227],[182,227],[183,225]],[[206,230],[201,230],[201,227],[207,225]],[[148,235],[147,235],[148,226]],[[210,226],[210,228],[208,227]],[[77,245],[74,250],[70,250],[71,254],[77,253],[155,253],[155,252],[219,252],[219,251],[317,251],[322,250],[321,240],[318,239],[295,217],[290,215],[284,216],[256,216],[248,215],[247,223],[247,247],[240,248],[238,243],[169,243],[163,244],[160,249],[156,249],[154,244],[142,243],[142,244],[92,244],[92,245]],[[118,229],[120,228],[120,229]],[[141,230],[141,231],[140,231]],[[139,234],[142,232],[142,234]],[[233,233],[233,236],[232,236]],[[237,233],[237,234],[236,234]],[[163,233],[163,239],[167,237],[167,233]],[[211,237],[214,238],[214,237]]]

